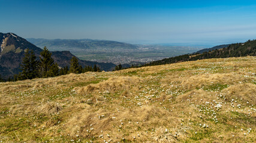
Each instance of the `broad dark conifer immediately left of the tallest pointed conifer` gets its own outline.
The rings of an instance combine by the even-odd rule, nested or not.
[[[34,79],[35,77],[38,77],[38,61],[33,50],[26,50],[25,57],[22,59],[20,67],[22,72],[19,73],[19,80]]]

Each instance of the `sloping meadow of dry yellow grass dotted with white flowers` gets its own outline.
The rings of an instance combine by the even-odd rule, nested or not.
[[[255,142],[256,57],[0,83],[1,142]]]

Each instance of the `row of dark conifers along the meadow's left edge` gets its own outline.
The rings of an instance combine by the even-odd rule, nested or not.
[[[52,52],[44,46],[43,51],[40,52],[40,58],[37,60],[35,53],[31,49],[26,49],[25,57],[20,64],[19,74],[14,75],[13,78],[9,77],[7,80],[2,79],[0,75],[0,82],[17,81],[43,77],[55,77],[69,73],[85,73],[88,71],[98,71],[100,68],[94,65],[82,67],[76,57],[72,57],[70,67],[59,67],[52,58]]]

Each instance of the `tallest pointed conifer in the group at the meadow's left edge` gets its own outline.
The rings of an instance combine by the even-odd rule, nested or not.
[[[54,60],[52,58],[52,53],[44,46],[43,51],[40,52],[40,76],[41,77],[49,77],[52,76],[52,71],[50,68],[54,64]]]

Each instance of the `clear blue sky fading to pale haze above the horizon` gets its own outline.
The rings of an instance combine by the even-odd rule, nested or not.
[[[0,32],[131,43],[256,39],[256,1],[0,0]]]

